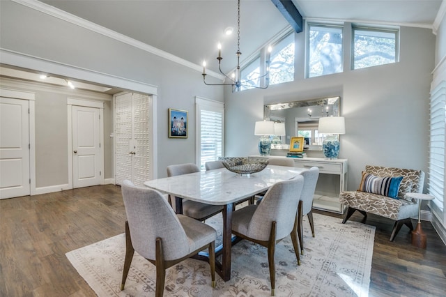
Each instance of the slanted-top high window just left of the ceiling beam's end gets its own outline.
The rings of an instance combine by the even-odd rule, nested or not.
[[[294,31],[272,47],[270,54],[270,84],[294,80]]]

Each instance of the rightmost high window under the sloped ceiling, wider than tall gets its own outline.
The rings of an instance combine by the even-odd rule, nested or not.
[[[395,63],[397,35],[396,30],[353,27],[353,69]]]

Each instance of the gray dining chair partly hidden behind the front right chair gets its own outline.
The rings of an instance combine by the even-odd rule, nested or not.
[[[308,216],[309,227],[312,229],[312,235],[314,237],[314,222],[313,222],[313,197],[314,190],[316,190],[316,183],[318,182],[319,169],[318,167],[312,167],[309,170],[305,170],[301,175],[304,177],[304,188],[300,194],[300,201],[298,206],[298,234],[300,243],[300,252],[304,254],[304,236],[302,218],[304,215]]]

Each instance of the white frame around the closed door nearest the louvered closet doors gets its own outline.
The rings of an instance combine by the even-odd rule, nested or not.
[[[100,184],[104,184],[104,102],[82,100],[77,98],[67,98],[67,119],[68,119],[68,188],[73,188],[72,176],[72,105],[93,107],[99,109],[99,139],[100,139]]]

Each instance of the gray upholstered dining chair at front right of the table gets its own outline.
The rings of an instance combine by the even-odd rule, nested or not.
[[[272,185],[259,205],[249,205],[233,212],[232,234],[268,248],[271,294],[275,295],[275,245],[291,235],[295,257],[300,265],[297,212],[304,184],[303,176]]]

